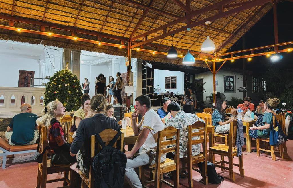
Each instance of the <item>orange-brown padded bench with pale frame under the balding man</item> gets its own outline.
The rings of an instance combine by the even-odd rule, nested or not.
[[[2,168],[6,168],[7,155],[36,152],[37,147],[38,144],[20,146],[9,145],[9,143],[6,140],[4,140],[4,138],[0,137],[0,150],[3,151],[3,153],[0,153],[0,156],[3,156]]]

